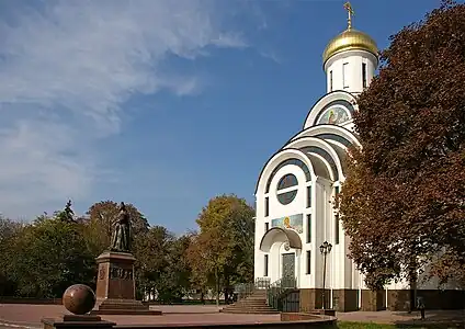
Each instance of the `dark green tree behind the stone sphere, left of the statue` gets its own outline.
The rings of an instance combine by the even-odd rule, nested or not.
[[[78,224],[41,218],[15,235],[11,252],[7,271],[20,296],[60,297],[71,284],[93,285],[95,262]]]

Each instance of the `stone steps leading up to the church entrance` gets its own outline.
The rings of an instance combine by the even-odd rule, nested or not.
[[[220,311],[234,314],[279,314],[277,310],[268,306],[265,288],[256,288],[247,297],[224,307]]]

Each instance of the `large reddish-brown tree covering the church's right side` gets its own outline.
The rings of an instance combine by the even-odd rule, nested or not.
[[[372,290],[465,268],[465,5],[443,1],[382,53],[360,95],[340,211]],[[462,272],[463,273],[463,272]]]

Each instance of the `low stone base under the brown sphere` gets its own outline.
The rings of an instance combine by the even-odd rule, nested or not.
[[[112,329],[116,324],[102,320],[98,316],[91,315],[65,315],[60,319],[43,319],[44,329],[68,329],[68,328],[100,328]]]

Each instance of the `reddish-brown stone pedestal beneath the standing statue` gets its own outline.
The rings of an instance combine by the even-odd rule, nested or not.
[[[136,300],[134,262],[128,252],[104,251],[97,258],[97,306],[91,315],[161,315]]]

